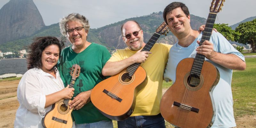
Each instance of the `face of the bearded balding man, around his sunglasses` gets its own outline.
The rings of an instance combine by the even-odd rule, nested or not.
[[[132,33],[135,31],[139,31],[137,36],[134,36]],[[138,51],[145,45],[143,41],[143,31],[140,30],[138,25],[133,21],[128,21],[123,26],[123,36],[131,34],[131,38],[127,39],[123,37],[124,43],[131,49],[132,51]]]

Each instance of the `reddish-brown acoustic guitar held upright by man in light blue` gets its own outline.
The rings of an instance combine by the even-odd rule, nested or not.
[[[213,0],[199,46],[210,40],[217,13],[224,0]],[[218,84],[220,73],[205,56],[185,58],[176,68],[176,81],[164,93],[160,112],[169,123],[180,128],[211,127],[215,115],[212,91]],[[175,60],[174,60],[175,61]]]

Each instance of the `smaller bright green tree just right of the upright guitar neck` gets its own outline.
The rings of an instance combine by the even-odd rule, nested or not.
[[[228,24],[214,24],[213,28],[216,28],[227,40],[235,41],[237,33]]]

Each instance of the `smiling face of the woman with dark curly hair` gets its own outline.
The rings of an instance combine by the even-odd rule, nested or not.
[[[52,44],[47,46],[42,52],[41,62],[42,62],[42,70],[44,72],[49,72],[52,70],[53,66],[55,66],[59,60],[60,49],[57,45]]]

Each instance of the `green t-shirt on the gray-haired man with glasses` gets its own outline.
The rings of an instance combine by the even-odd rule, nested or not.
[[[78,64],[81,67],[81,72],[74,84],[74,97],[80,92],[91,90],[96,84],[105,79],[101,71],[110,57],[111,55],[106,47],[95,43],[90,44],[83,52],[78,54],[71,49],[71,46],[63,49],[58,62],[58,69],[65,87],[70,84],[72,78],[69,74],[69,68],[73,64]],[[103,116],[91,101],[85,104],[83,108],[73,110],[72,116],[76,124],[110,120]]]

